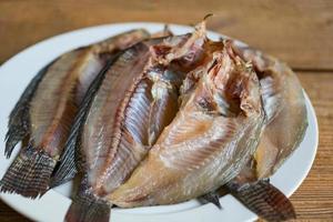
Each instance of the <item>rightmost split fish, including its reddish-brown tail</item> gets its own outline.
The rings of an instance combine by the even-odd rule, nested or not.
[[[292,203],[266,179],[299,147],[305,133],[307,120],[302,87],[292,70],[275,58],[248,47],[234,44],[234,49],[254,64],[266,118],[252,160],[226,186],[246,208],[268,221],[294,219]]]

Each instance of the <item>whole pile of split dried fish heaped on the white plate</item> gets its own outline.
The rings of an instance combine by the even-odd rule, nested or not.
[[[32,79],[10,114],[6,155],[28,143],[0,190],[37,198],[79,171],[67,221],[194,198],[221,209],[221,186],[268,221],[289,220],[294,209],[269,176],[306,127],[302,87],[275,58],[209,40],[205,21],[183,36],[132,30]]]

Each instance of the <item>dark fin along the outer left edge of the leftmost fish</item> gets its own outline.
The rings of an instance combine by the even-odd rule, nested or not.
[[[37,90],[38,84],[52,64],[48,64],[41,69],[37,75],[30,81],[21,98],[9,115],[8,132],[6,134],[4,154],[10,158],[14,147],[30,133],[29,103]]]

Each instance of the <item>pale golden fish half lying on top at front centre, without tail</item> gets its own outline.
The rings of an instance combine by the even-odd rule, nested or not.
[[[133,208],[198,198],[229,182],[249,161],[264,121],[251,63],[225,42],[189,93],[145,160],[108,196],[112,203]]]

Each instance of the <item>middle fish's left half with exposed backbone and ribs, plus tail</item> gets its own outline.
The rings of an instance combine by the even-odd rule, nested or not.
[[[185,78],[178,67],[190,65],[193,46],[203,43],[204,36],[196,32],[140,42],[105,72],[79,123],[74,149],[82,155],[83,179],[67,221],[109,221],[112,203],[105,196],[128,179],[178,112],[179,87]],[[164,58],[171,51],[172,59]]]

